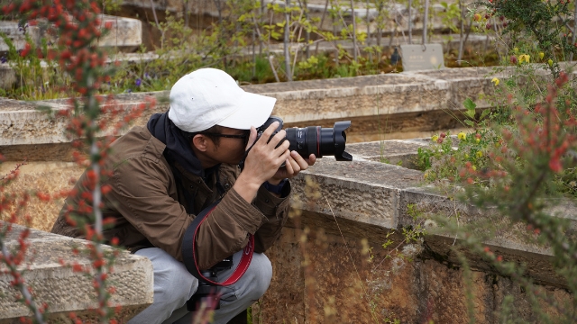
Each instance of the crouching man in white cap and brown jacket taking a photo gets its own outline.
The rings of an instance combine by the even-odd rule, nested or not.
[[[272,136],[278,122],[256,140],[255,127],[269,118],[275,101],[244,92],[221,70],[199,69],[172,87],[169,112],[154,114],[146,127],[134,127],[114,142],[104,166],[113,174],[105,181],[112,190],[103,214],[115,222],[104,236],[150,258],[154,267],[154,302],[130,323],[190,323],[194,318],[186,303],[198,280],[183,261],[189,264],[195,256],[182,248],[183,237],[195,215],[219,199],[194,237],[198,269],[233,256],[233,268],[218,274],[222,282],[239,263],[250,234],[255,253],[240,280],[221,288],[214,322],[231,320],[268,289],[272,270],[262,252],[279,238],[287,220],[287,179],[316,160],[290,152],[284,130]],[[248,148],[241,172],[237,165]],[[87,192],[86,179],[85,172],[52,232],[83,237],[67,219]]]

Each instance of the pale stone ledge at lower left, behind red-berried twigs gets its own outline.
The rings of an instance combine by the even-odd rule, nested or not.
[[[0,226],[4,226],[0,222]],[[13,230],[6,238],[8,248],[17,246],[18,233],[22,226],[14,225]],[[48,302],[50,320],[52,322],[66,322],[71,311],[77,313],[81,319],[89,320],[93,314],[89,309],[98,306],[96,294],[92,286],[92,279],[86,275],[75,273],[70,267],[61,266],[60,258],[67,264],[78,262],[80,265],[89,265],[90,260],[85,256],[74,256],[72,247],[85,246],[82,239],[68,238],[40,230],[32,229],[29,237],[31,250],[27,253],[27,270],[24,279],[36,294],[36,301]],[[110,249],[111,247],[106,247]],[[30,316],[32,313],[20,302],[14,302],[16,291],[10,285],[12,277],[1,273],[5,267],[0,264],[0,323],[12,324],[19,322],[20,317]],[[138,257],[127,251],[120,253],[116,258],[114,273],[109,275],[109,283],[116,287],[111,302],[121,306],[122,311],[118,319],[122,322],[131,319],[152,302],[153,277],[152,264],[146,257]]]

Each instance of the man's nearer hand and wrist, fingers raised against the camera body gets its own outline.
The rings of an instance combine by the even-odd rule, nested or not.
[[[279,122],[273,122],[269,128],[264,130],[261,139],[258,140],[256,139],[256,129],[254,127],[251,128],[251,135],[246,149],[250,148],[252,143],[254,145],[244,160],[243,172],[233,186],[234,190],[247,202],[252,202],[261,184],[275,175],[280,165],[290,156],[289,141],[284,140],[279,145],[279,142],[285,139],[287,135],[285,130],[279,130],[270,139],[270,136],[278,127]],[[267,139],[270,139],[268,143]],[[254,142],[255,140],[256,143]],[[279,147],[277,148],[278,145]]]

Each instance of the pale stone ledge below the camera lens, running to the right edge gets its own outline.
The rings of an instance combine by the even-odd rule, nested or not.
[[[319,159],[315,166],[303,172],[294,180],[295,200],[312,223],[321,223],[329,232],[336,220],[346,221],[353,226],[341,226],[345,236],[351,238],[369,238],[382,242],[390,229],[402,229],[423,224],[425,219],[415,219],[408,212],[408,205],[415,205],[425,215],[451,218],[459,213],[461,223],[479,220],[483,213],[472,206],[455,202],[445,195],[437,193],[435,188],[423,185],[421,171],[371,161],[375,156],[388,158],[403,154],[417,155],[417,148],[423,140],[383,141],[389,151],[380,153],[381,142],[359,143],[347,146],[352,152],[353,162],[337,162],[332,157]],[[350,148],[350,149],[349,149]],[[371,148],[375,149],[371,151]],[[399,153],[404,152],[404,153]],[[306,188],[306,177],[310,176],[318,184],[320,197],[311,197],[310,188]],[[553,211],[557,217],[571,220],[568,233],[577,229],[577,212],[571,203],[559,205]],[[358,224],[358,225],[357,225]],[[437,233],[438,232],[438,233]],[[369,234],[370,233],[370,234]],[[491,250],[508,260],[516,260],[527,265],[527,274],[537,283],[566,287],[563,277],[557,275],[552,266],[552,252],[547,247],[537,246],[527,241],[514,229],[501,230],[497,236],[485,243]],[[334,234],[339,234],[334,231]],[[459,264],[451,251],[455,238],[435,231],[427,235],[427,252],[441,257],[443,262]],[[483,271],[492,271],[480,257],[472,257],[472,266]]]

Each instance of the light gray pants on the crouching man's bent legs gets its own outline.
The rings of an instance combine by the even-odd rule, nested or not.
[[[243,250],[233,256],[234,266],[218,274],[224,281],[234,272]],[[137,255],[148,257],[154,268],[154,302],[136,315],[129,324],[192,323],[195,313],[187,311],[187,301],[197,291],[198,280],[187,268],[158,247],[143,248]],[[229,286],[221,287],[220,309],[214,313],[213,323],[227,323],[246,310],[267,291],[272,277],[269,258],[261,253],[252,256],[251,266],[243,277]]]

